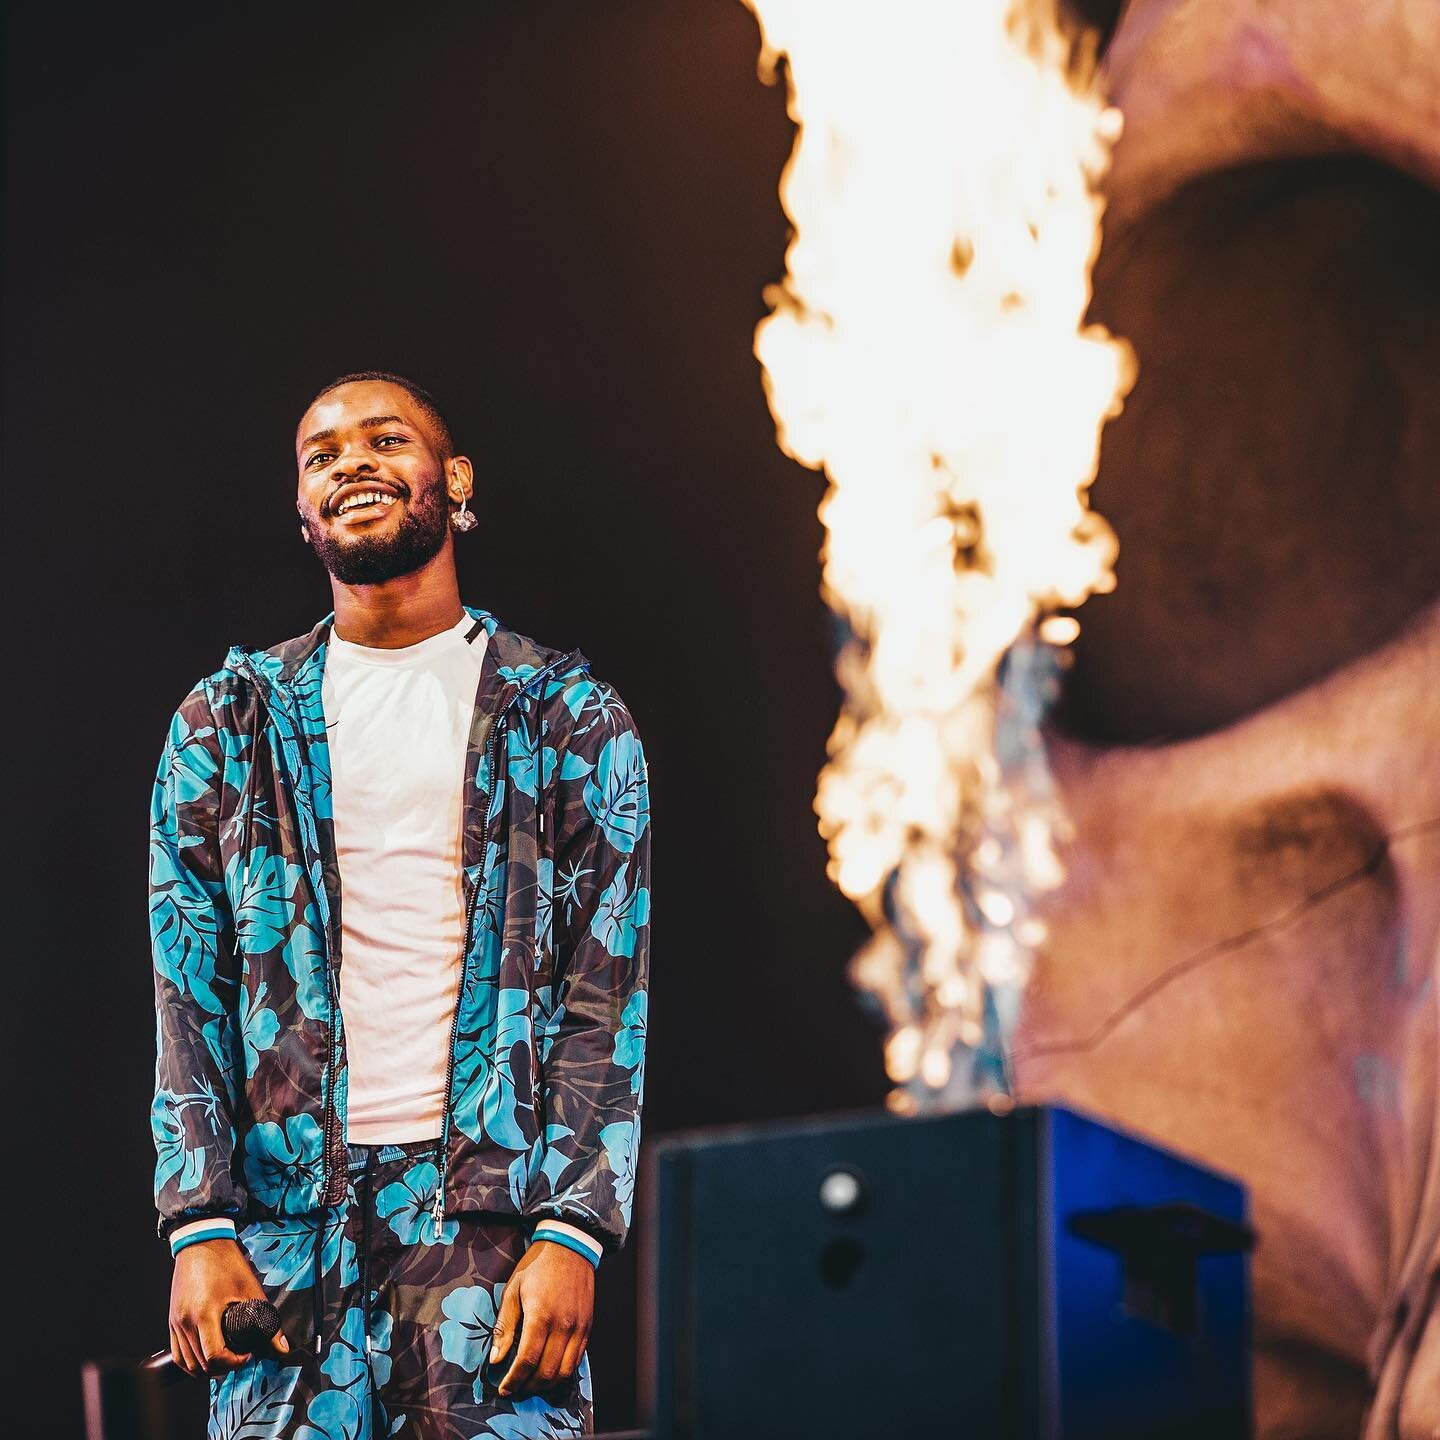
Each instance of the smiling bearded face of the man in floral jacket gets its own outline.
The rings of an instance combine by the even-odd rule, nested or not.
[[[445,462],[400,386],[357,380],[323,396],[300,422],[295,459],[301,523],[337,580],[380,585],[445,546]]]

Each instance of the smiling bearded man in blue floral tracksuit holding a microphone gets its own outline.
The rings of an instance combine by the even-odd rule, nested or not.
[[[295,454],[334,611],[194,687],[151,808],[171,1352],[212,1440],[588,1434],[639,1143],[644,752],[579,651],[461,603],[474,469],[413,382],[336,380]],[[225,1306],[261,1295],[274,1352],[233,1354]]]

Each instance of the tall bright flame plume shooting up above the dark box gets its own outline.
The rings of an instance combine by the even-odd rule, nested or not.
[[[1130,348],[1083,324],[1120,115],[1054,0],[746,0],[786,60],[788,274],[755,351],[780,448],[829,487],[848,639],[815,809],[874,935],[897,1110],[1007,1089],[1056,886],[1040,721],[1060,609],[1113,589],[1087,508]]]

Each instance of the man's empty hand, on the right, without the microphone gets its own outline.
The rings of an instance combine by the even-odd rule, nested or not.
[[[520,1331],[520,1348],[500,1381],[500,1394],[531,1395],[569,1381],[585,1354],[595,1318],[595,1267],[583,1256],[536,1240],[520,1257],[500,1302],[492,1365]]]

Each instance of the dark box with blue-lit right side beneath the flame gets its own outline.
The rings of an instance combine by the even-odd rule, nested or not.
[[[1246,1192],[1071,1110],[651,1142],[664,1440],[1243,1440]]]

